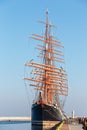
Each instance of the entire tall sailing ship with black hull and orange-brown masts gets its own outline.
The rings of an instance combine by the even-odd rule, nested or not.
[[[25,77],[29,85],[37,91],[37,98],[33,101],[31,109],[32,122],[62,121],[65,114],[62,109],[60,97],[68,95],[67,75],[63,68],[63,46],[51,33],[54,25],[46,22],[44,35],[32,34],[31,38],[39,41],[37,49],[40,51],[41,62],[27,62],[25,66],[32,67],[32,77]]]

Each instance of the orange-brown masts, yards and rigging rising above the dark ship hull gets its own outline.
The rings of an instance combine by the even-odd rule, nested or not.
[[[67,96],[68,85],[66,73],[62,67],[56,67],[56,63],[63,63],[63,46],[52,36],[50,30],[54,25],[48,22],[48,10],[46,11],[46,22],[40,21],[46,25],[45,35],[32,34],[31,38],[41,41],[37,49],[41,51],[40,58],[43,63],[28,62],[25,66],[31,66],[34,70],[31,72],[36,77],[27,77],[25,80],[30,80],[30,86],[35,87],[41,93],[41,103],[52,104],[55,94]]]

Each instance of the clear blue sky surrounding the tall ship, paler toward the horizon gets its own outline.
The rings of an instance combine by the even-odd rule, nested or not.
[[[32,88],[26,88],[24,64],[34,57],[29,36],[40,34],[46,9],[64,45],[69,95],[64,111],[87,115],[87,1],[0,0],[0,116],[30,116]]]

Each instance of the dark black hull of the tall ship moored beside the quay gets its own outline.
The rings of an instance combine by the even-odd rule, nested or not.
[[[62,121],[62,114],[55,106],[33,104],[32,122]]]

